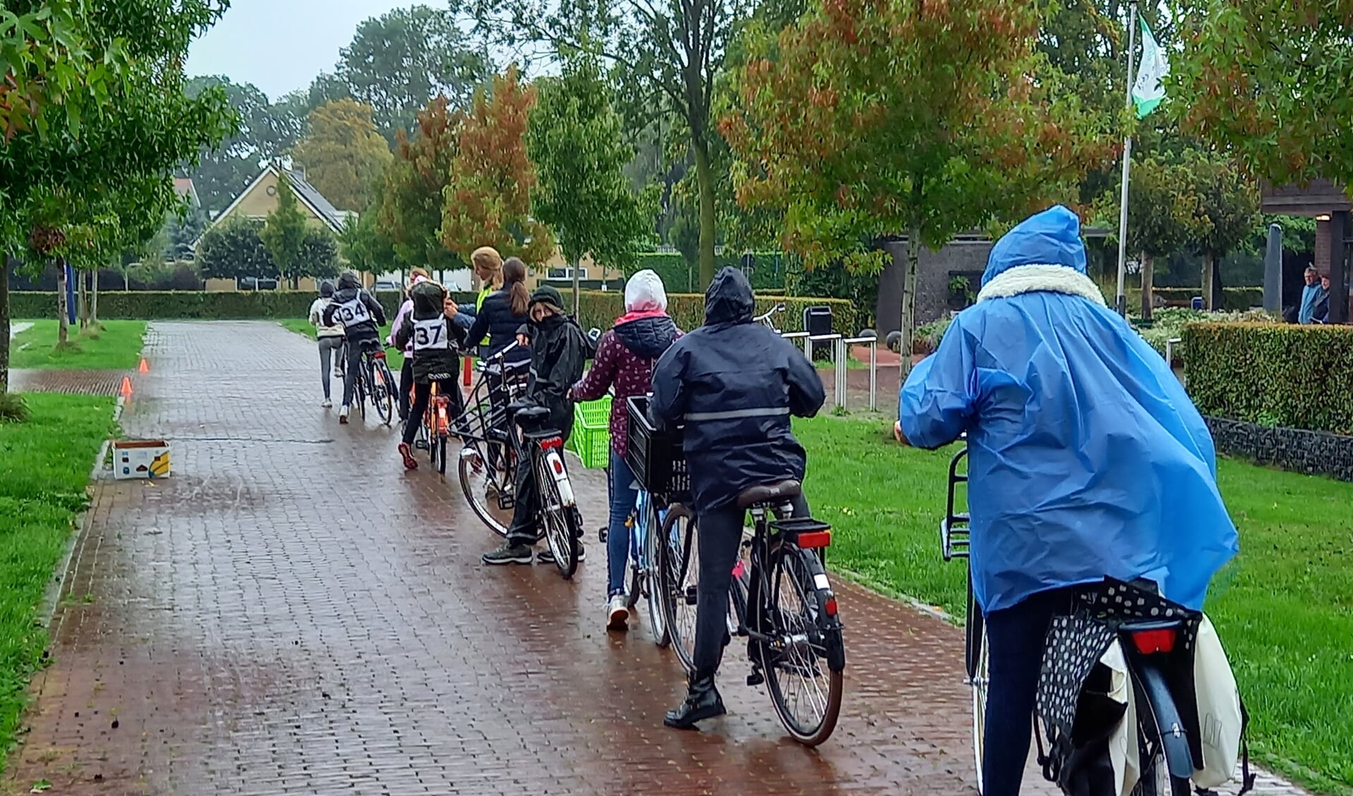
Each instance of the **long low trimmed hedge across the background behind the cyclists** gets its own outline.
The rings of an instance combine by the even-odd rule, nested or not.
[[[376,293],[386,315],[394,318],[399,309],[400,295],[394,291]],[[457,301],[472,303],[474,293],[455,293]],[[671,293],[668,311],[682,328],[695,328],[705,320],[705,296],[693,293]],[[204,291],[131,291],[99,292],[99,318],[107,319],[246,319],[246,318],[304,318],[315,295],[308,291],[260,291],[249,293],[204,292]],[[566,291],[564,301],[572,296]],[[766,312],[777,301],[785,303],[785,312],[775,318],[775,324],[785,331],[802,331],[804,308],[825,304],[832,308],[832,326],[836,332],[854,335],[855,308],[840,299],[785,299],[771,295],[756,299],[756,312]],[[579,299],[578,323],[583,328],[610,328],[616,318],[625,312],[625,296],[618,291],[583,291]],[[9,314],[12,318],[53,318],[57,314],[57,295],[47,292],[22,291],[9,293]]]

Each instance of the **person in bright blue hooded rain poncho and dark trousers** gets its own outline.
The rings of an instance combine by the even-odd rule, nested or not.
[[[1053,207],[992,249],[977,304],[901,389],[898,435],[967,432],[973,588],[986,618],[985,796],[1019,793],[1043,639],[1068,588],[1149,578],[1200,610],[1237,551],[1212,438],[1158,353],[1085,276]]]

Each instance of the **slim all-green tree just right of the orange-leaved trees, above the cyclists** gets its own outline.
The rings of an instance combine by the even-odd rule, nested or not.
[[[538,86],[526,128],[537,176],[534,215],[553,230],[571,265],[591,255],[602,268],[626,269],[653,237],[658,197],[656,186],[647,197],[629,189],[625,164],[635,151],[621,139],[610,86],[589,57],[570,58],[560,77]]]

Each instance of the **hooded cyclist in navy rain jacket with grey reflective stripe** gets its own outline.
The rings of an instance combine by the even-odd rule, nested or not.
[[[747,512],[744,489],[804,478],[806,454],[790,415],[810,418],[827,400],[817,370],[793,343],[752,320],[752,287],[725,268],[705,292],[705,326],[681,338],[653,368],[649,415],[686,423],[700,581],[695,595],[695,670],[686,700],[663,719],[691,728],[724,714],[714,670],[724,653],[728,589]],[[794,515],[808,516],[802,496]]]

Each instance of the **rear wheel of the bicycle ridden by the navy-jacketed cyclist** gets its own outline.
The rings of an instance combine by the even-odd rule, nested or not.
[[[762,673],[781,724],[804,746],[817,746],[831,738],[840,718],[844,692],[844,642],[840,624],[828,620],[824,597],[817,588],[820,574],[825,576],[825,570],[815,553],[786,546],[770,572],[766,584],[770,595],[760,597],[760,610],[755,614],[764,635],[785,639],[779,649],[758,645]],[[787,604],[786,597],[793,604]],[[805,641],[792,641],[798,637]],[[790,677],[782,681],[781,674]],[[812,678],[812,688],[802,685],[808,674],[817,674]],[[825,691],[819,680],[825,680]],[[786,691],[790,682],[796,684],[793,693]],[[796,712],[801,696],[806,696],[812,711],[806,720]]]

